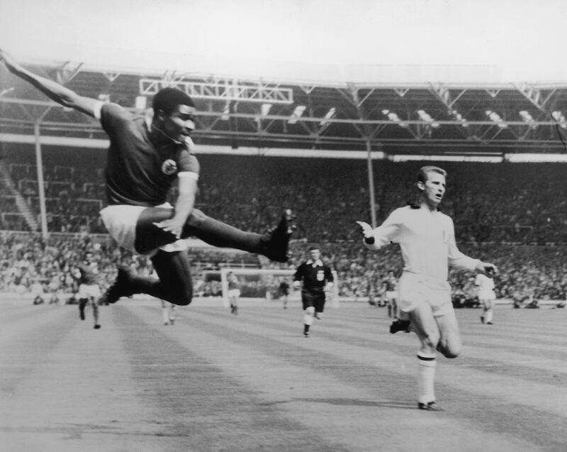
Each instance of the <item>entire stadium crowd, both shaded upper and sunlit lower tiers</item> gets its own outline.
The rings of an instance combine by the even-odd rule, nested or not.
[[[21,146],[4,155],[13,181],[31,208],[39,211],[32,151]],[[58,275],[66,275],[91,243],[89,234],[105,232],[98,214],[104,203],[104,154],[55,148],[45,152],[48,228],[86,238],[66,239],[55,245],[35,240],[30,242],[35,247],[31,250],[29,244],[23,245],[26,252],[22,244],[9,239],[2,245],[0,290],[13,287],[18,277],[55,279],[51,275],[54,269]],[[199,160],[199,208],[238,228],[262,232],[276,222],[283,206],[292,206],[298,216],[295,237],[305,243],[318,243],[332,268],[339,272],[342,296],[366,297],[381,284],[381,275],[389,269],[400,271],[395,246],[381,253],[359,246],[354,221],[368,221],[370,217],[365,161],[230,155],[199,155]],[[413,178],[421,165],[374,163],[378,222],[412,200]],[[563,182],[562,165],[444,162],[442,166],[449,172],[449,190],[442,209],[454,219],[460,248],[473,256],[490,258],[502,269],[497,281],[498,296],[508,298],[520,291],[535,292],[541,298],[565,297],[567,269],[561,256],[567,243],[567,184]],[[0,206],[1,229],[26,230],[22,222],[18,224],[21,217],[4,214],[16,209],[7,192],[0,192]],[[293,246],[292,268],[304,257],[301,241]],[[14,246],[20,246],[17,255],[13,255]],[[97,252],[103,253],[101,262],[108,280],[116,271],[116,263],[124,259],[130,259],[138,272],[151,272],[145,259],[125,256],[104,241],[96,246],[100,247]],[[14,262],[15,268],[23,268],[26,259],[21,255],[26,253],[36,256],[30,260],[33,264],[27,264],[28,272],[7,277],[6,271]],[[193,253],[193,264],[203,263],[196,265],[196,275],[227,260],[222,254],[199,253]],[[255,257],[239,259],[239,265],[261,265]],[[67,277],[59,277],[65,287],[69,286]],[[203,286],[199,278],[196,281]],[[456,290],[466,290],[470,275],[451,273],[451,283]]]

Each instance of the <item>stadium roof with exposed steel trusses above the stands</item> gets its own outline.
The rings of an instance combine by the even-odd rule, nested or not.
[[[253,148],[380,150],[388,155],[564,153],[567,84],[285,82],[184,72],[126,72],[80,63],[31,66],[84,96],[129,109],[164,86],[196,101],[196,143]],[[4,136],[105,138],[97,121],[0,72]]]

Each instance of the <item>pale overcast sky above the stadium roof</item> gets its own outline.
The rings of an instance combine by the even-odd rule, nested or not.
[[[0,0],[0,47],[23,60],[251,75],[290,62],[298,78],[488,65],[503,82],[567,82],[566,24],[565,0]]]

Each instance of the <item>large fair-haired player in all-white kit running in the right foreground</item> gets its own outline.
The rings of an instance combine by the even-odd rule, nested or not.
[[[446,177],[447,172],[439,167],[422,167],[417,173],[415,204],[395,209],[375,229],[357,221],[367,248],[400,244],[404,268],[398,309],[401,319],[409,318],[421,343],[417,407],[431,411],[439,409],[434,395],[436,351],[447,358],[461,353],[461,334],[447,281],[449,265],[483,273],[496,271],[495,265],[469,258],[457,248],[453,220],[437,209],[445,194]]]

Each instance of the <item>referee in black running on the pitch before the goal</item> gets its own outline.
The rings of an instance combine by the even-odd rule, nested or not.
[[[309,248],[310,259],[299,265],[293,277],[293,287],[301,289],[301,302],[303,302],[303,336],[309,337],[309,328],[313,324],[313,317],[321,319],[325,308],[325,290],[330,290],[335,278],[331,269],[322,263],[321,252],[317,247]]]

